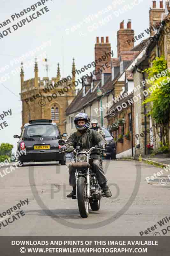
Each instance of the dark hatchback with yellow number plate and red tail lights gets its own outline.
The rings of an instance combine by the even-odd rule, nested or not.
[[[18,138],[17,150],[25,150],[26,155],[19,156],[18,160],[24,162],[48,162],[59,161],[65,165],[65,154],[61,152],[61,146],[58,140],[66,137],[67,134],[61,135],[57,125],[52,120],[32,120],[25,124],[21,136],[14,135]]]

